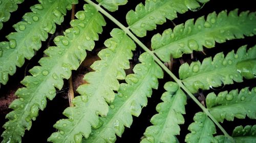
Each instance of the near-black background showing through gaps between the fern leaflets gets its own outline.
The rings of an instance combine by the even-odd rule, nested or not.
[[[119,10],[117,12],[111,13],[115,18],[117,18],[121,23],[123,23],[125,26],[125,14],[130,9],[135,9],[136,5],[140,2],[144,3],[143,1],[129,1],[125,6],[120,6]],[[255,2],[254,0],[245,0],[245,1],[220,1],[220,0],[212,0],[204,5],[204,7],[197,11],[192,12],[188,11],[185,14],[178,14],[178,18],[174,19],[173,22],[170,20],[167,20],[166,23],[163,25],[158,25],[156,31],[147,32],[146,38],[141,38],[140,40],[146,44],[150,45],[151,37],[156,33],[162,33],[167,28],[173,28],[175,23],[180,24],[184,23],[187,19],[190,18],[198,18],[203,15],[207,15],[211,12],[216,11],[219,13],[222,10],[234,10],[236,8],[239,8],[240,11],[250,10],[255,11]],[[1,41],[7,41],[5,36],[7,36],[10,32],[15,32],[14,28],[12,27],[13,24],[17,23],[18,21],[22,20],[22,16],[26,12],[30,12],[29,9],[30,6],[33,6],[34,4],[37,4],[37,1],[25,1],[24,3],[20,4],[18,7],[18,10],[11,13],[11,18],[8,22],[4,22],[3,29],[0,31],[0,38]],[[85,4],[84,1],[79,1],[79,4],[76,6],[76,11],[82,10],[82,6]],[[8,104],[12,100],[15,99],[14,93],[15,91],[22,87],[22,84],[19,82],[25,77],[25,75],[29,75],[28,70],[31,69],[33,66],[38,65],[39,59],[44,54],[43,51],[47,48],[47,45],[53,46],[52,39],[54,36],[59,35],[64,31],[66,28],[68,28],[69,21],[71,17],[71,11],[68,11],[67,15],[65,16],[65,21],[61,25],[57,25],[56,33],[55,35],[50,35],[47,41],[42,42],[42,48],[36,52],[36,55],[32,58],[32,60],[28,61],[26,60],[24,66],[22,68],[17,68],[17,72],[14,76],[9,77],[9,81],[7,85],[1,85],[0,89],[0,126],[3,126],[4,123],[7,121],[5,119],[6,114],[11,111],[7,108]],[[105,39],[110,38],[109,33],[114,27],[117,27],[112,21],[110,21],[108,18],[105,18],[107,25],[103,27],[103,33],[100,35],[100,41],[96,42],[95,49],[92,52],[89,52],[88,55],[89,58],[87,60],[90,60],[90,57],[95,56],[101,47],[103,47],[103,42]],[[207,56],[215,55],[218,52],[224,51],[224,53],[227,53],[231,49],[238,49],[242,45],[248,45],[248,47],[251,47],[255,44],[255,36],[253,37],[246,37],[245,39],[238,39],[238,40],[231,40],[227,41],[226,43],[218,44],[216,43],[216,48],[212,49],[205,49],[204,52],[207,54],[206,56],[202,54],[202,52],[195,52],[194,57],[196,59],[191,59],[190,54],[185,54],[180,59],[176,59],[173,61],[173,72],[178,76],[178,69],[180,66],[180,60],[183,60],[184,62],[191,62],[191,60],[199,60],[202,61]],[[137,50],[134,52],[135,56],[134,59],[131,60],[131,64],[134,64],[137,62],[137,56],[142,52],[138,46]],[[136,56],[137,55],[137,56]],[[93,59],[93,58],[92,58]],[[97,58],[96,58],[97,59]],[[84,66],[84,65],[82,65]],[[90,71],[90,68],[80,67],[78,71],[73,72],[74,76],[83,75],[84,73]],[[82,69],[82,70],[81,70]],[[85,71],[84,71],[85,70]],[[125,132],[122,135],[122,138],[117,138],[116,142],[139,142],[140,138],[143,136],[143,132],[145,131],[147,126],[150,126],[150,119],[153,115],[155,115],[157,112],[155,110],[156,105],[161,102],[160,97],[163,90],[163,84],[166,81],[171,80],[168,75],[164,76],[164,79],[159,79],[159,90],[153,90],[152,98],[148,98],[148,106],[144,107],[142,109],[142,113],[139,118],[134,117],[134,122],[131,128],[126,128]],[[67,98],[67,91],[68,91],[68,85],[67,80],[65,80],[66,84],[64,85],[63,89],[61,91],[58,91],[56,94],[56,97],[52,101],[48,101],[47,107],[44,111],[39,111],[39,116],[37,117],[36,121],[33,122],[32,128],[30,131],[26,131],[25,136],[23,137],[23,142],[47,142],[47,138],[51,135],[52,132],[55,132],[56,129],[53,128],[53,124],[56,123],[61,118],[65,118],[65,116],[62,115],[62,111],[69,106],[68,98]],[[224,87],[220,87],[218,89],[211,89],[209,91],[202,91],[204,95],[207,95],[209,92],[221,92],[225,90],[232,90],[232,89],[242,89],[245,87],[253,87],[255,86],[255,79],[252,80],[245,80],[245,82],[242,83],[234,83],[233,85],[225,85]],[[180,142],[184,142],[185,135],[188,132],[187,127],[188,125],[193,122],[193,117],[196,112],[201,111],[201,109],[194,103],[194,101],[191,101],[190,99],[187,100],[186,105],[186,115],[184,115],[185,118],[185,124],[180,125],[181,132],[180,135],[177,137],[179,138]],[[246,118],[246,120],[238,120],[235,119],[234,122],[227,122],[224,121],[222,124],[223,127],[228,131],[229,134],[232,133],[232,130],[234,127],[239,125],[253,125],[255,124],[255,121],[250,120]],[[4,131],[3,128],[0,128],[0,133]],[[217,129],[217,134],[222,134],[219,129]],[[2,138],[0,139],[2,140]]]

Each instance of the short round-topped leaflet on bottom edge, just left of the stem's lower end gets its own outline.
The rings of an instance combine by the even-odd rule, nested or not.
[[[212,134],[216,133],[214,122],[205,113],[197,112],[194,116],[194,123],[188,126],[191,133],[185,137],[186,142],[217,142]]]

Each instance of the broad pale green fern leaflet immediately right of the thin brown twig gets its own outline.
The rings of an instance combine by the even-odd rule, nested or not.
[[[136,47],[122,30],[115,28],[111,36],[113,38],[104,43],[108,48],[98,53],[101,60],[91,66],[95,71],[84,76],[89,84],[80,85],[77,91],[81,96],[74,98],[75,106],[63,112],[69,119],[59,120],[54,125],[59,131],[53,133],[49,141],[81,142],[82,136],[88,137],[91,133],[91,126],[98,126],[98,116],[107,115],[108,103],[114,100],[114,91],[119,89],[117,79],[124,79],[124,69],[130,68],[129,59],[132,59],[132,50]]]

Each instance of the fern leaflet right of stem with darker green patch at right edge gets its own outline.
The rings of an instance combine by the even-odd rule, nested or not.
[[[179,76],[189,91],[196,93],[198,89],[208,90],[210,87],[219,87],[222,83],[231,84],[233,80],[242,82],[243,77],[254,78],[255,62],[256,46],[247,51],[246,46],[242,46],[236,54],[232,50],[225,58],[221,52],[215,55],[214,60],[211,57],[204,59],[202,64],[199,61],[192,62],[190,66],[185,63],[180,66]]]

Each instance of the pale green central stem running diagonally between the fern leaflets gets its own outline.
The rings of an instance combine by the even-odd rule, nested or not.
[[[110,15],[108,12],[106,12],[104,9],[102,9],[99,5],[93,3],[90,0],[84,0],[87,3],[93,5],[98,11],[100,11],[103,15],[108,17],[110,20],[112,20],[117,26],[119,26],[127,35],[129,35],[143,50],[145,50],[147,53],[151,54],[153,56],[153,59],[156,61],[156,63],[163,68],[163,70],[170,75],[179,85],[180,87],[188,94],[188,96],[193,99],[198,106],[206,113],[206,115],[214,122],[220,130],[224,133],[224,135],[232,142],[234,142],[233,138],[225,131],[225,129],[218,123],[218,121],[212,117],[210,112],[207,108],[205,108],[197,99],[196,97],[191,94],[191,92],[184,86],[184,84],[181,82],[180,79],[178,79],[164,64],[157,58],[157,56],[152,52],[150,49],[148,49],[140,40],[132,33],[130,32],[129,28],[125,27],[122,23],[120,23],[117,19],[115,19],[112,15]]]

